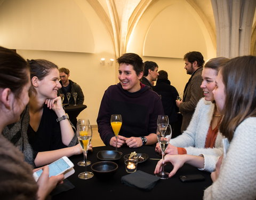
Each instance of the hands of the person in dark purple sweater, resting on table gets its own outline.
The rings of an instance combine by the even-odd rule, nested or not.
[[[126,143],[130,148],[137,148],[142,146],[142,140],[140,137],[131,137],[126,138],[122,135],[118,135],[117,137],[117,148],[120,148]],[[116,137],[112,137],[110,139],[109,145],[116,147]]]

